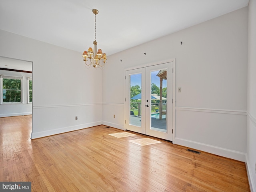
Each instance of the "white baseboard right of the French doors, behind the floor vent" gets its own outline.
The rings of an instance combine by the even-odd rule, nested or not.
[[[188,148],[193,148],[193,149],[208,152],[211,154],[219,155],[222,157],[227,157],[234,160],[246,162],[246,154],[243,152],[238,152],[238,151],[221,148],[217,146],[212,146],[204,143],[194,142],[194,141],[190,141],[182,138],[174,138],[173,143],[181,146],[186,146]]]

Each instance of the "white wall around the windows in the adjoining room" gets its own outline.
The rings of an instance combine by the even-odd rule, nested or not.
[[[32,65],[32,63],[31,63],[31,65]],[[31,115],[32,114],[32,103],[28,103],[27,77],[32,78],[32,74],[31,73],[23,73],[23,72],[15,72],[15,71],[6,71],[6,70],[0,70],[0,74],[5,75],[5,76],[23,77],[23,80],[22,80],[23,103],[1,104],[0,105],[0,117]]]

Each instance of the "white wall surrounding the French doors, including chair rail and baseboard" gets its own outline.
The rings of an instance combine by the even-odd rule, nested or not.
[[[125,129],[125,69],[175,58],[173,142],[245,161],[247,32],[246,7],[109,56],[103,71],[103,123]]]

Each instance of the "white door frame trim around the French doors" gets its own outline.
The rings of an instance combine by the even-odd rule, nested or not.
[[[169,59],[169,60],[163,60],[163,61],[158,61],[158,62],[152,62],[148,64],[143,64],[140,66],[134,66],[131,68],[125,68],[124,69],[124,130],[126,130],[126,123],[128,123],[128,120],[126,120],[127,116],[127,109],[126,109],[126,71],[128,70],[134,70],[134,69],[139,69],[139,68],[144,68],[144,67],[149,67],[149,66],[154,66],[154,65],[159,65],[159,64],[164,64],[164,63],[170,63],[173,62],[173,74],[172,74],[172,98],[173,98],[173,104],[172,104],[172,143],[175,144],[174,138],[175,138],[175,104],[176,104],[176,99],[175,99],[175,58],[174,59]]]

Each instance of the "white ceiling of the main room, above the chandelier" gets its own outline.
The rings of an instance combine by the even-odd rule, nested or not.
[[[0,0],[0,29],[82,52],[107,56],[210,20],[249,0]],[[26,46],[26,45],[24,45]]]

